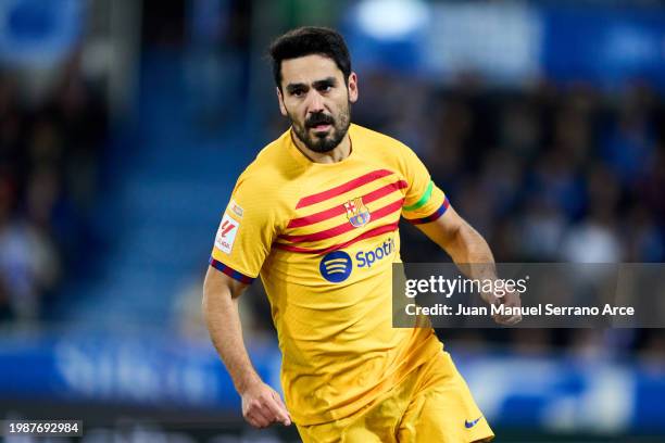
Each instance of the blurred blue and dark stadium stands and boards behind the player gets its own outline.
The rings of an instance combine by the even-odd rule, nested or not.
[[[265,48],[303,24],[342,30],[353,119],[417,151],[498,261],[665,261],[663,1],[0,0],[2,418],[298,441],[243,425],[200,296],[237,175],[287,127]],[[260,284],[242,315],[277,383]],[[498,442],[665,442],[662,330],[440,336]]]

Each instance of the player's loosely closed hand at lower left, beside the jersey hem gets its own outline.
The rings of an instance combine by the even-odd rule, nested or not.
[[[266,428],[274,422],[291,425],[291,417],[279,394],[258,380],[242,394],[242,417],[254,428]]]

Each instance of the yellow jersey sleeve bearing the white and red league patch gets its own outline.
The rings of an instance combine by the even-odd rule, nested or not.
[[[273,199],[242,177],[224,211],[210,265],[243,283],[259,275],[276,237]]]

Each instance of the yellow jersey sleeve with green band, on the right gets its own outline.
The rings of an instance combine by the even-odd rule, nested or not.
[[[427,167],[409,148],[403,148],[402,168],[409,183],[402,216],[414,225],[439,218],[449,207],[446,193],[431,180]]]

